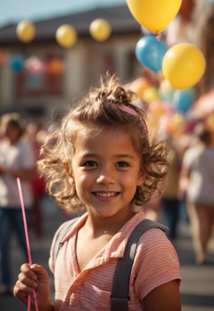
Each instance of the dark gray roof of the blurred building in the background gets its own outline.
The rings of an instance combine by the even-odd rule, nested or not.
[[[139,32],[140,25],[131,15],[127,5],[117,7],[102,7],[80,13],[55,17],[38,22],[34,41],[55,40],[57,28],[63,24],[71,24],[79,36],[89,35],[89,25],[95,18],[105,18],[112,27],[112,33]],[[15,33],[16,24],[8,25],[0,29],[0,44],[20,42]]]

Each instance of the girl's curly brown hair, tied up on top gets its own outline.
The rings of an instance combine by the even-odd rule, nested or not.
[[[41,148],[42,159],[38,170],[46,181],[46,189],[62,208],[73,211],[84,208],[66,176],[64,162],[71,163],[78,132],[81,127],[89,129],[115,128],[129,135],[135,151],[141,156],[141,168],[146,177],[137,186],[132,205],[142,205],[155,192],[160,194],[168,170],[167,147],[148,135],[146,113],[134,105],[135,94],[121,85],[116,75],[101,78],[100,85],[93,86],[62,119],[61,125],[50,132]],[[124,112],[119,105],[128,106],[137,115]]]

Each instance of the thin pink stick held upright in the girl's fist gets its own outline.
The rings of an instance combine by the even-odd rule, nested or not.
[[[28,237],[28,232],[27,232],[27,222],[26,222],[26,216],[25,216],[25,211],[24,211],[24,201],[23,201],[23,196],[22,196],[22,191],[21,191],[20,178],[17,177],[16,181],[18,184],[18,192],[19,192],[19,198],[20,198],[20,203],[21,203],[21,211],[22,211],[22,217],[23,217],[23,222],[24,222],[24,232],[25,232],[25,238],[26,238],[26,244],[27,244],[28,260],[29,260],[29,264],[32,264],[31,253],[30,253],[30,243],[29,243],[29,237]],[[37,301],[36,301],[35,289],[33,289],[33,297],[35,300],[36,311],[39,311]],[[27,311],[30,311],[30,301],[31,301],[31,296],[28,294]]]

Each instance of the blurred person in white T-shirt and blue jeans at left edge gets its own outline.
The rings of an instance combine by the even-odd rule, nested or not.
[[[9,245],[13,231],[27,258],[26,240],[16,177],[20,178],[26,217],[32,206],[30,180],[35,172],[31,144],[22,139],[25,123],[17,113],[0,118],[0,275],[1,294],[10,294]]]

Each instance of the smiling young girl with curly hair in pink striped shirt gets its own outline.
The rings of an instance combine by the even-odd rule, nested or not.
[[[38,167],[49,193],[63,208],[87,213],[65,234],[55,265],[53,240],[54,306],[44,268],[21,266],[14,295],[25,305],[35,289],[39,311],[110,310],[116,264],[144,219],[136,206],[160,189],[167,173],[166,148],[149,140],[145,113],[134,106],[133,95],[115,75],[107,76],[46,139]],[[180,311],[180,281],[177,254],[165,234],[143,233],[130,276],[129,310]]]

